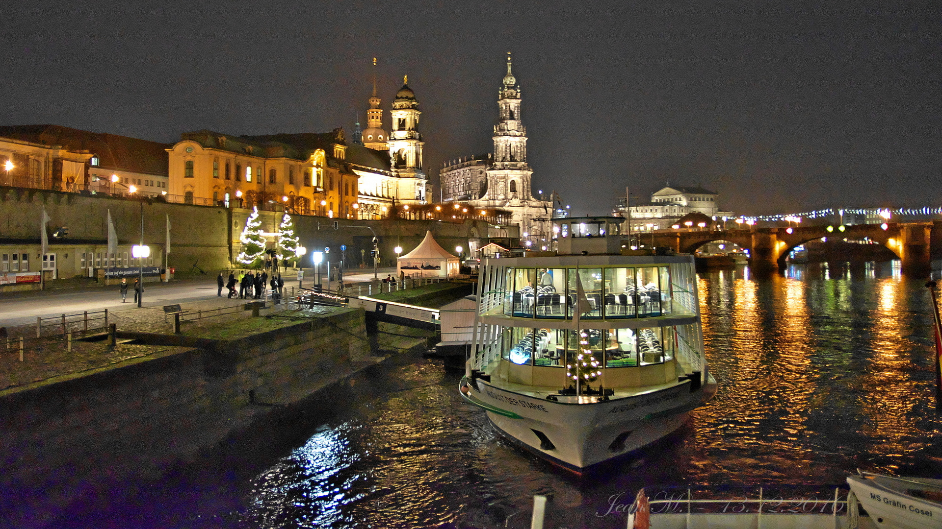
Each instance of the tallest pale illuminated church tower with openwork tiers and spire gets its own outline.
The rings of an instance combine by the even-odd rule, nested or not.
[[[498,121],[494,126],[494,166],[488,170],[491,197],[498,200],[533,200],[530,194],[532,169],[527,163],[527,128],[520,117],[520,86],[511,71],[497,91]]]

